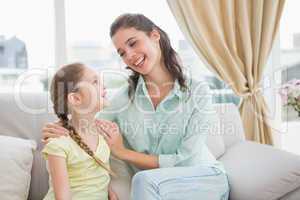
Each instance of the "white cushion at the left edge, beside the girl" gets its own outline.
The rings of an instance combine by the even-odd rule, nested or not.
[[[32,140],[0,136],[1,200],[27,199],[35,148]]]

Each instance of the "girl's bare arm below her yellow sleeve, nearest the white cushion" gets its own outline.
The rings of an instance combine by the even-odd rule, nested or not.
[[[49,172],[56,200],[71,200],[66,159],[48,155]]]

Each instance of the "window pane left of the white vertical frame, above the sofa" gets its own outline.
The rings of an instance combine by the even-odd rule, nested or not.
[[[43,90],[41,74],[54,65],[53,7],[53,0],[1,1],[1,91],[11,91],[18,78],[21,90]]]

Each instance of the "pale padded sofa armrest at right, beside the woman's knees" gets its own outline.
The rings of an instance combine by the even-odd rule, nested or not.
[[[300,156],[242,141],[220,158],[228,173],[231,200],[279,199],[300,186]]]

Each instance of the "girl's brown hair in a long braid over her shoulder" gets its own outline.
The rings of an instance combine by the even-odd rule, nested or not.
[[[81,63],[73,63],[61,67],[54,75],[51,83],[51,100],[53,109],[57,117],[62,123],[62,126],[70,131],[70,137],[83,149],[95,162],[103,167],[112,176],[115,173],[107,167],[100,159],[98,159],[90,147],[82,140],[81,136],[77,133],[75,128],[70,124],[68,114],[68,94],[76,92],[76,84],[80,81],[85,66]]]

